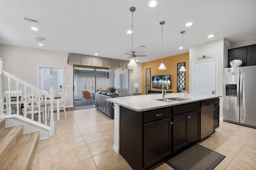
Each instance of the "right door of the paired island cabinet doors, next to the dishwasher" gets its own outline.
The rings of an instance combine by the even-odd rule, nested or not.
[[[188,138],[187,142],[194,142],[200,139],[200,128],[199,128],[199,121],[200,121],[200,110],[193,111],[188,113],[187,122],[188,122]]]

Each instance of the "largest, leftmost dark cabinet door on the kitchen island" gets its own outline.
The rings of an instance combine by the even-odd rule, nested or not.
[[[144,168],[171,153],[171,118],[144,124]]]

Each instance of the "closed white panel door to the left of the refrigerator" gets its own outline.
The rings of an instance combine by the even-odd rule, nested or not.
[[[217,94],[217,59],[198,61],[193,63],[193,87],[194,94]]]

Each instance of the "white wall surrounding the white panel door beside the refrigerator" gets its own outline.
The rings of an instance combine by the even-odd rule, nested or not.
[[[223,68],[224,65],[226,63],[224,63],[224,58],[225,61],[227,61],[227,49],[224,51],[224,46],[226,48],[226,45],[224,44],[225,39],[219,39],[219,40],[215,40],[209,43],[205,43],[202,45],[198,45],[196,47],[191,47],[189,49],[189,89],[190,92],[193,93],[193,62],[194,61],[198,61],[196,60],[196,57],[199,55],[204,55],[204,54],[209,54],[209,53],[213,53],[213,58],[218,59],[218,87],[217,87],[217,91],[218,91],[218,96],[222,96],[223,93]],[[225,54],[224,54],[225,53]],[[207,59],[206,59],[207,60]],[[222,118],[222,97],[220,97],[220,117]]]

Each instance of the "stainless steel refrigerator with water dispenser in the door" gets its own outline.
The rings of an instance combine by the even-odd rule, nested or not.
[[[256,128],[256,65],[225,68],[223,121]]]

